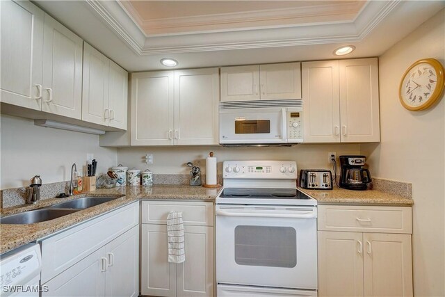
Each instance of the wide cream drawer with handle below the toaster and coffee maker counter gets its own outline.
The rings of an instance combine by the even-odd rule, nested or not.
[[[412,234],[411,207],[319,205],[318,230]]]

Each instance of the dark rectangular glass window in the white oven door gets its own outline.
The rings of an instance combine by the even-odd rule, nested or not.
[[[293,268],[297,264],[297,234],[292,227],[235,227],[238,265]]]

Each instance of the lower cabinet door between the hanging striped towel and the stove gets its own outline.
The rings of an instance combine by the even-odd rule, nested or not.
[[[177,264],[178,296],[213,296],[213,227],[184,226],[186,261]]]

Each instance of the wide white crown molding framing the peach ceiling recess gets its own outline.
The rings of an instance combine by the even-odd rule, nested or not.
[[[86,0],[104,22],[140,56],[359,42],[402,1],[367,1],[354,19],[337,22],[201,31],[186,35],[147,36],[138,19],[119,1]]]

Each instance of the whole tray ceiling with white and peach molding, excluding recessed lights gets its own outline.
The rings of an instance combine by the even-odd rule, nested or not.
[[[125,69],[380,56],[445,1],[34,1]]]

